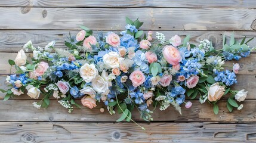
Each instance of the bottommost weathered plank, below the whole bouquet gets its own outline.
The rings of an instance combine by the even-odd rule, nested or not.
[[[2,142],[255,142],[256,124],[0,123]]]

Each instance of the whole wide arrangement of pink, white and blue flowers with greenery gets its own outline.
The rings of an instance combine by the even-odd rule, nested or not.
[[[241,110],[247,92],[233,91],[230,86],[237,83],[236,74],[239,64],[233,65],[233,71],[227,70],[225,61],[248,57],[253,48],[249,48],[245,38],[240,43],[231,36],[229,44],[223,36],[223,48],[214,49],[207,39],[198,46],[190,44],[186,36],[181,44],[178,35],[166,39],[156,32],[144,33],[138,30],[143,22],[126,18],[127,25],[119,35],[114,32],[98,32],[81,26],[76,36],[65,41],[67,48],[54,48],[54,41],[45,48],[34,47],[29,41],[21,49],[16,59],[9,60],[15,66],[16,73],[7,76],[10,89],[5,92],[4,100],[27,92],[31,98],[42,98],[33,102],[36,108],[48,107],[50,98],[67,108],[94,108],[97,102],[103,102],[110,114],[118,112],[117,122],[134,122],[132,111],[138,110],[141,119],[153,120],[154,108],[166,110],[170,106],[181,114],[181,106],[192,107],[188,99],[198,98],[202,104],[213,104],[218,114],[218,100],[229,96],[227,109]],[[33,57],[27,59],[24,52],[32,51]],[[80,100],[75,100],[80,99]],[[238,102],[237,102],[238,101]],[[134,108],[135,107],[135,108]],[[100,109],[101,112],[104,108]]]

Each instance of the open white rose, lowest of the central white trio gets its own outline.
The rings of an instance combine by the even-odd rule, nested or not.
[[[92,88],[97,91],[99,94],[108,94],[109,92],[109,84],[106,80],[104,80],[101,76],[97,75],[91,81]]]

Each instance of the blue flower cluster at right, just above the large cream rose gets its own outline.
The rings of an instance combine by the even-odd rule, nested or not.
[[[220,72],[214,70],[214,73],[217,74],[217,76],[214,77],[214,80],[216,82],[223,82],[227,86],[233,85],[234,83],[238,83],[238,81],[236,80],[236,74],[234,72],[231,72],[229,70]]]

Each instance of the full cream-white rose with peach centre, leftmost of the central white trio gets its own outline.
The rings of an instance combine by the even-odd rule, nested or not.
[[[84,64],[80,69],[80,76],[85,80],[85,82],[91,82],[98,75],[98,70],[95,68],[94,64]]]

